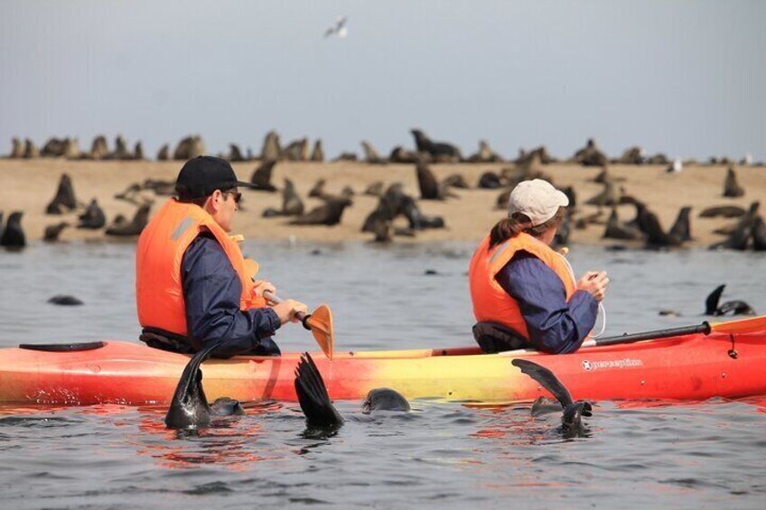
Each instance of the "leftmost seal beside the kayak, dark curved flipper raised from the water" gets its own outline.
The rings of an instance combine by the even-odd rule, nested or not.
[[[189,360],[183,369],[181,379],[175,387],[170,409],[165,414],[165,425],[168,429],[201,429],[210,424],[211,416],[231,416],[245,413],[238,401],[227,397],[221,397],[210,405],[205,392],[202,390],[200,366],[218,347],[219,344],[214,343],[203,348]]]

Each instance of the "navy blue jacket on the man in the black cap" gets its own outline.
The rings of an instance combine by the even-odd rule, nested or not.
[[[204,348],[220,341],[215,357],[279,356],[270,337],[281,322],[271,308],[239,310],[242,283],[229,257],[212,236],[200,235],[186,248],[181,262],[186,328]]]

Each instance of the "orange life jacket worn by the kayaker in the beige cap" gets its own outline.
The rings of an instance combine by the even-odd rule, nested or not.
[[[566,262],[564,255],[556,253],[550,246],[524,232],[491,249],[488,249],[489,246],[490,236],[487,236],[473,254],[468,271],[473,315],[479,322],[503,324],[529,339],[527,322],[521,315],[518,302],[505,292],[495,276],[518,251],[528,252],[543,261],[561,278],[566,292],[566,301],[569,301],[575,291],[572,268]]]

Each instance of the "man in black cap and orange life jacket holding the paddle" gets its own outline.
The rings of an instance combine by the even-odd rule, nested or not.
[[[200,156],[186,162],[175,190],[145,227],[135,258],[135,294],[141,339],[182,353],[213,342],[214,357],[279,356],[272,340],[282,324],[306,312],[285,300],[269,307],[268,282],[253,282],[229,232],[238,210],[240,182],[229,162]]]

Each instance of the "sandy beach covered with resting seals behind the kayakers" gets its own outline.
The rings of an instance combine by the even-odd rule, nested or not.
[[[240,180],[248,181],[258,166],[258,162],[234,163]],[[174,181],[182,162],[91,162],[67,161],[63,159],[0,160],[0,204],[5,217],[14,210],[23,210],[22,225],[29,243],[42,241],[44,228],[62,220],[77,223],[77,214],[63,216],[45,214],[45,207],[55,195],[61,174],[66,172],[72,178],[74,191],[80,202],[87,203],[98,198],[98,203],[111,222],[117,214],[132,218],[135,206],[124,200],[115,199],[115,194],[125,190],[131,183],[145,179]],[[431,241],[478,241],[500,218],[504,211],[496,209],[495,203],[502,190],[480,190],[475,188],[481,173],[499,172],[512,163],[458,163],[432,164],[430,168],[437,179],[459,173],[472,186],[469,190],[453,189],[457,198],[446,201],[418,200],[418,206],[426,215],[444,217],[446,228],[418,232],[416,237],[395,237],[395,242],[431,242]],[[624,179],[620,185],[625,192],[648,204],[655,211],[660,223],[668,229],[675,221],[678,209],[691,206],[691,231],[695,240],[685,246],[708,246],[724,237],[713,231],[733,222],[724,218],[698,218],[699,211],[711,206],[738,205],[747,208],[753,200],[766,199],[766,171],[762,167],[736,166],[739,183],[746,190],[743,197],[727,199],[722,196],[725,165],[687,166],[680,173],[666,173],[665,166],[659,165],[611,165],[612,177]],[[571,163],[546,165],[545,172],[552,177],[559,187],[574,186],[578,208],[576,216],[587,216],[597,211],[594,206],[582,205],[601,190],[601,184],[593,178],[601,172],[600,168],[582,167]],[[311,226],[296,227],[288,225],[289,218],[262,218],[263,209],[280,209],[280,192],[245,191],[243,210],[236,219],[235,230],[248,239],[278,240],[294,236],[296,240],[317,242],[336,242],[344,240],[366,241],[372,236],[360,231],[360,227],[370,211],[376,208],[378,198],[361,193],[375,181],[386,185],[401,182],[407,193],[418,197],[415,166],[411,164],[371,165],[365,162],[279,162],[272,181],[281,188],[284,178],[294,181],[298,193],[304,198],[306,210],[321,205],[320,199],[306,198],[308,191],[318,179],[326,179],[325,190],[328,193],[340,193],[345,186],[350,186],[357,195],[353,206],[346,209],[341,224],[335,227]],[[145,191],[147,198],[154,199],[153,212],[166,197],[156,196]],[[629,220],[635,216],[631,205],[620,206],[620,218]],[[603,221],[609,215],[609,209],[603,210]],[[401,225],[406,224],[400,218]],[[574,229],[572,244],[612,245],[613,239],[603,239],[603,225],[590,225],[584,229]],[[80,240],[120,240],[109,237],[103,230],[83,230],[69,228],[61,234],[61,241]],[[631,243],[629,243],[631,244]],[[640,242],[632,246],[641,246]]]

